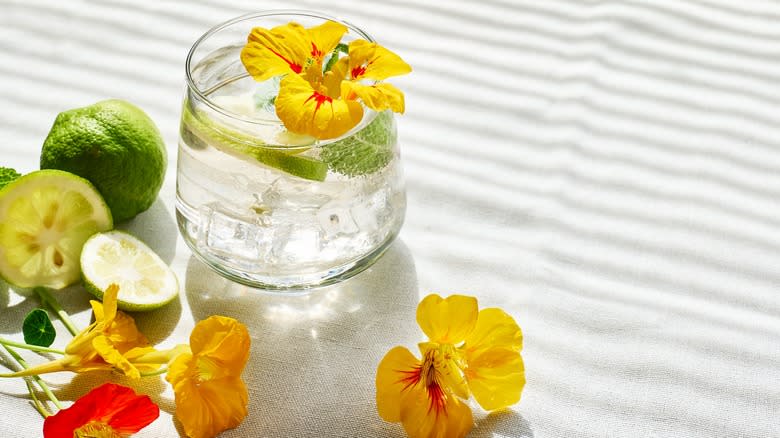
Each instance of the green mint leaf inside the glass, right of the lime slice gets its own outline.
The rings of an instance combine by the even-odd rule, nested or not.
[[[368,175],[393,159],[395,143],[393,113],[384,111],[355,135],[322,146],[320,159],[342,175]]]

